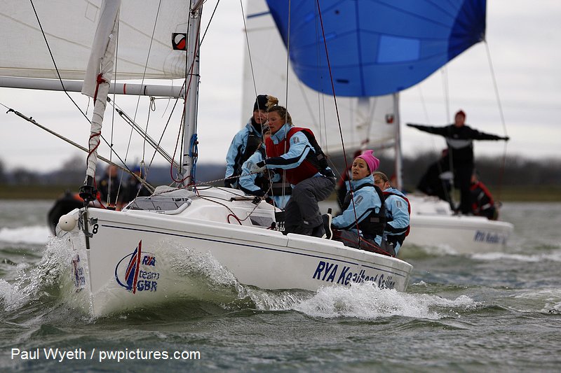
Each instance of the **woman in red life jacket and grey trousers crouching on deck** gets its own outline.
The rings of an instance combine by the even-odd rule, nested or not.
[[[335,175],[327,167],[313,132],[293,127],[286,108],[272,106],[268,119],[271,137],[265,142],[267,159],[258,162],[252,172],[264,168],[282,170],[292,185],[292,195],[285,206],[285,234],[324,237],[318,202],[333,192]]]

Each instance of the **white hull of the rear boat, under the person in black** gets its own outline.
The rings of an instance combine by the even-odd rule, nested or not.
[[[502,251],[513,232],[511,223],[481,216],[454,215],[450,206],[434,197],[408,195],[411,231],[407,246],[440,247],[459,254]]]

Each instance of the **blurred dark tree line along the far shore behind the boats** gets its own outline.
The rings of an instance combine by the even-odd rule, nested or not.
[[[380,159],[380,171],[388,176],[395,173],[393,157],[383,153],[377,155]],[[352,155],[351,155],[352,157]],[[347,162],[352,162],[348,157]],[[420,153],[414,157],[403,159],[403,182],[405,188],[414,190],[429,164],[440,157],[437,153]],[[487,185],[524,186],[558,186],[561,185],[561,159],[529,160],[518,156],[509,156],[504,160],[501,157],[476,157],[475,167],[478,169],[480,179]],[[342,158],[334,164],[337,171],[344,170]],[[103,162],[98,164],[98,180],[105,170]],[[222,185],[220,179],[224,178],[224,164],[198,163],[196,178],[198,181],[216,181]],[[76,185],[76,189],[83,183],[86,166],[82,157],[73,157],[61,164],[60,169],[51,172],[40,172],[24,168],[7,171],[0,160],[0,185]],[[170,184],[170,167],[154,166],[148,171],[147,181],[152,185]]]

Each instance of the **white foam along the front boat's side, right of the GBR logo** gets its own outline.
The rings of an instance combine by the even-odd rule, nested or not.
[[[454,312],[454,309],[477,305],[466,296],[447,300],[436,295],[381,290],[373,283],[325,287],[317,293],[306,290],[264,290],[239,283],[234,274],[220,265],[210,253],[198,253],[170,241],[162,243],[163,247],[170,245],[175,246],[175,251],[172,255],[167,251],[167,258],[163,257],[177,274],[177,283],[184,283],[182,277],[190,282],[195,280],[198,295],[207,293],[207,300],[220,302],[227,309],[255,305],[256,309],[262,311],[295,310],[321,318],[408,316],[438,319],[444,317],[438,313],[439,309],[445,316],[450,316],[451,309]],[[163,247],[154,248],[154,251],[160,251]]]

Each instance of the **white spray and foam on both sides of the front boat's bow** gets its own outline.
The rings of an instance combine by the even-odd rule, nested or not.
[[[172,251],[170,247],[173,247]],[[170,293],[175,296],[163,297],[162,302],[149,307],[130,307],[109,317],[126,317],[128,314],[147,311],[165,314],[171,307],[181,309],[182,313],[188,311],[189,314],[222,314],[250,309],[264,312],[297,311],[315,318],[376,319],[406,316],[438,319],[450,316],[451,309],[460,312],[478,306],[477,302],[466,296],[447,300],[436,295],[380,289],[375,283],[324,287],[317,293],[306,290],[263,290],[240,283],[210,253],[200,253],[174,241],[162,241],[160,246],[151,250],[161,261],[162,267],[170,268],[165,276],[169,279],[168,285],[174,288]],[[52,307],[53,311],[65,307],[70,311],[79,310],[81,316],[88,316],[90,304],[87,291],[76,291],[74,279],[69,276],[73,259],[74,255],[67,251],[62,240],[50,237],[38,265],[22,263],[18,265],[15,281],[8,283],[0,280],[0,304],[4,310],[18,311],[33,307],[33,304],[43,304],[43,307]],[[179,289],[182,291],[177,291]],[[169,307],[162,307],[163,303]]]

